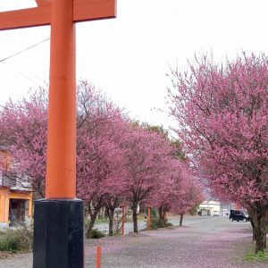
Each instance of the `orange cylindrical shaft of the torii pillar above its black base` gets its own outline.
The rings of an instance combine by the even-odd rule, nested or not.
[[[46,198],[76,194],[75,24],[72,0],[52,1]]]

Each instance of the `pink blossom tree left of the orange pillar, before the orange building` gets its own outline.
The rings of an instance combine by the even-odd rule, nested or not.
[[[0,110],[0,141],[12,155],[12,168],[4,173],[21,187],[33,188],[39,197],[45,196],[46,93],[40,88]]]

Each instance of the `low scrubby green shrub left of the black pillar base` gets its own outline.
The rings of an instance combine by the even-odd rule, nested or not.
[[[0,251],[30,251],[32,239],[32,230],[6,230],[0,234]]]

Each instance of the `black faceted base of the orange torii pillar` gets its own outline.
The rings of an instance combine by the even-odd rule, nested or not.
[[[35,201],[33,268],[84,267],[84,203]]]

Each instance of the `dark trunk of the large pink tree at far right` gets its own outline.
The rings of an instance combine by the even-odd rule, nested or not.
[[[266,215],[262,210],[252,213],[252,226],[255,237],[255,253],[258,251],[264,252],[266,247]]]

